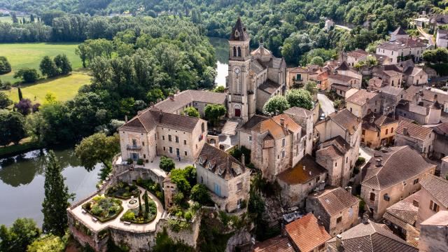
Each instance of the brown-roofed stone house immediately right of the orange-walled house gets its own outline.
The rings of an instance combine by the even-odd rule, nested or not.
[[[409,146],[429,158],[433,153],[434,137],[431,128],[400,120],[395,132],[395,146]]]

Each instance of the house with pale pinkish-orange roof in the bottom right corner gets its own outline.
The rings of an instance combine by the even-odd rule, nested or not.
[[[447,251],[448,211],[439,211],[421,223],[419,250],[421,252]]]

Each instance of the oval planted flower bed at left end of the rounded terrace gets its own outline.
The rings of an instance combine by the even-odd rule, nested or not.
[[[102,223],[111,221],[123,211],[122,201],[112,197],[95,196],[83,204],[83,209]]]

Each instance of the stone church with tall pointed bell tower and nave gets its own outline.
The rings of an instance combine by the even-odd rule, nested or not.
[[[264,48],[262,39],[251,52],[249,38],[241,19],[229,38],[228,116],[246,123],[262,111],[270,97],[286,92],[286,62]]]

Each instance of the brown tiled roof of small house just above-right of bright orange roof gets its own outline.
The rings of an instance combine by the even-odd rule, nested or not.
[[[357,197],[342,188],[331,188],[311,193],[308,197],[315,197],[330,216],[335,216],[341,211],[349,209],[353,204],[359,204],[360,202]]]

